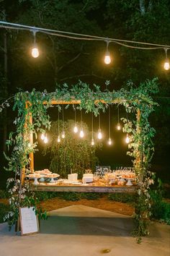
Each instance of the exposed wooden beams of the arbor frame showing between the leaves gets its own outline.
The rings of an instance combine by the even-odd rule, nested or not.
[[[101,101],[101,100],[95,101],[94,103],[99,103],[99,102],[104,103],[104,104],[107,103],[107,102]],[[112,101],[112,103],[119,103],[119,102],[120,101],[118,99],[115,99],[115,101]],[[55,101],[55,100],[50,101],[51,105],[76,105],[76,104],[80,104],[80,103],[81,103],[81,101]],[[30,102],[26,102],[26,108],[29,108],[30,104],[31,104]],[[44,102],[42,102],[42,104],[46,105],[47,102],[44,101]],[[137,110],[136,116],[137,116],[137,122],[139,124],[139,121],[140,121],[140,109],[139,108]],[[30,124],[32,124],[32,114],[31,113],[29,114],[29,119],[28,120],[29,120]],[[25,123],[25,126],[27,126],[27,123]],[[140,132],[140,127],[139,126],[137,127],[137,132]],[[32,144],[33,143],[33,134],[32,134],[32,132],[30,132],[29,140],[30,140],[30,143]],[[138,159],[136,159],[136,161],[138,163],[140,163],[140,152],[138,154]],[[30,171],[34,172],[34,153],[33,152],[30,153]],[[23,181],[23,179],[22,179],[22,181]]]

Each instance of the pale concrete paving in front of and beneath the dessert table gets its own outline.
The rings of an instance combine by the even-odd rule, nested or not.
[[[154,223],[142,244],[132,229],[129,216],[72,205],[51,211],[40,234],[17,236],[0,224],[0,256],[170,256],[170,226]]]

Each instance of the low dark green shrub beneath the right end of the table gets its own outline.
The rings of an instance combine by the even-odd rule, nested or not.
[[[108,199],[116,202],[128,202],[130,204],[135,204],[138,195],[125,194],[125,193],[112,193],[108,195]]]

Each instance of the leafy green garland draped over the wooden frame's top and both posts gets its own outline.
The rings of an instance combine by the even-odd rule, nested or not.
[[[109,85],[109,82],[107,82]],[[137,121],[124,122],[124,132],[130,134],[130,144],[128,154],[134,158],[133,165],[135,172],[138,175],[138,201],[135,206],[135,220],[137,223],[135,234],[140,238],[143,234],[148,234],[146,229],[147,219],[150,212],[150,197],[148,194],[149,186],[153,183],[151,173],[148,168],[153,155],[152,137],[154,129],[150,127],[148,116],[154,111],[157,105],[151,98],[152,93],[158,92],[157,79],[147,80],[138,88],[134,88],[133,83],[129,83],[129,90],[121,89],[119,91],[105,90],[102,92],[98,85],[94,85],[94,90],[91,90],[88,84],[79,81],[77,85],[73,85],[71,89],[64,84],[53,93],[46,91],[40,93],[32,90],[31,93],[19,92],[15,95],[14,110],[18,111],[18,116],[14,120],[16,124],[16,132],[10,133],[9,140],[6,144],[12,147],[11,157],[7,157],[9,161],[9,171],[14,171],[14,179],[9,179],[9,184],[12,184],[9,192],[12,197],[9,199],[12,205],[12,211],[6,218],[9,219],[9,225],[17,221],[18,208],[22,202],[27,202],[30,205],[31,196],[27,196],[30,192],[27,183],[21,184],[22,171],[30,171],[29,154],[34,152],[37,142],[30,144],[30,132],[33,133],[35,139],[37,132],[45,132],[50,129],[50,116],[47,114],[47,109],[52,106],[52,101],[79,101],[78,109],[84,109],[86,113],[93,112],[95,116],[99,111],[105,111],[109,103],[118,103],[125,106],[126,111],[137,113]],[[27,106],[27,108],[26,108]],[[69,107],[69,104],[66,108]],[[30,123],[32,116],[32,123]],[[25,200],[27,198],[27,200]]]

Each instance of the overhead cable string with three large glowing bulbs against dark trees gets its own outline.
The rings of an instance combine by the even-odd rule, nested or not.
[[[32,46],[32,57],[37,58],[40,55],[38,46],[37,46],[37,40],[36,40],[36,34],[37,33],[45,33],[47,35],[54,35],[61,38],[69,38],[73,40],[98,40],[98,41],[104,41],[106,43],[106,52],[104,56],[104,63],[110,64],[112,62],[112,56],[109,53],[109,43],[116,43],[120,46],[125,46],[128,48],[135,48],[135,49],[141,49],[141,50],[156,50],[156,49],[163,49],[165,52],[165,61],[164,61],[164,69],[169,70],[170,69],[170,62],[168,58],[168,50],[170,49],[169,45],[163,45],[163,44],[157,44],[157,43],[145,43],[135,40],[122,40],[117,38],[104,38],[101,36],[96,35],[86,35],[81,33],[71,33],[67,31],[61,31],[61,30],[51,30],[46,29],[43,27],[33,27],[28,25],[21,25],[17,23],[12,22],[4,22],[0,21],[0,27],[10,29],[10,30],[28,30],[32,33],[33,36],[33,46]]]

